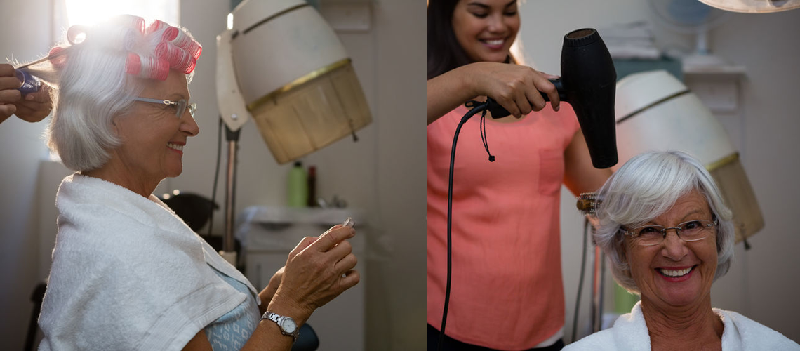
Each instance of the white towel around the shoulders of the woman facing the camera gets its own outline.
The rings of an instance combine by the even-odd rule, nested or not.
[[[781,333],[739,313],[714,309],[722,318],[722,351],[782,350],[798,351],[800,345]],[[642,302],[630,313],[623,314],[610,329],[601,330],[566,345],[564,351],[579,350],[650,350],[650,333],[642,314]]]

